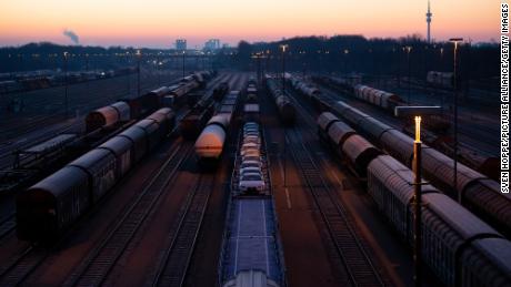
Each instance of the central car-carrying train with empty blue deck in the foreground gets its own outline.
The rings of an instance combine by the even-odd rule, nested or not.
[[[253,104],[253,103],[252,103]],[[219,286],[285,286],[284,260],[279,237],[278,218],[271,194],[270,174],[264,139],[259,130],[260,166],[265,181],[263,191],[241,191],[239,181],[243,171],[243,146],[252,143],[254,122],[248,122],[243,131],[251,135],[240,137],[239,153],[231,177],[231,196],[219,264]],[[250,147],[252,148],[252,147]],[[247,174],[247,173],[244,173]]]

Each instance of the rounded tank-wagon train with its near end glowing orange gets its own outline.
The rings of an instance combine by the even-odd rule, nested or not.
[[[217,114],[207,123],[196,141],[196,154],[200,162],[214,162],[222,155],[229,125],[234,117],[239,91],[231,91],[220,104]]]

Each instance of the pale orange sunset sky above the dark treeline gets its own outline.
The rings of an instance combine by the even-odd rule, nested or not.
[[[421,0],[0,0],[0,45],[51,41],[87,45],[173,47],[186,38],[271,41],[294,35],[425,35]],[[432,37],[499,39],[499,1],[432,0]]]

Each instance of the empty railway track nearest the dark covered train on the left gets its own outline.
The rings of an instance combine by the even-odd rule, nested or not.
[[[64,286],[98,286],[106,280],[112,267],[151,213],[152,207],[158,203],[168,184],[174,178],[181,164],[193,151],[191,143],[179,142],[177,145],[179,146],[172,146],[173,153],[146,185],[139,197],[131,204],[102,242],[89,253],[89,256],[68,277],[63,284]]]

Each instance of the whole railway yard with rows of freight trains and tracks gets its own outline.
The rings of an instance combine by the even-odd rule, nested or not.
[[[159,73],[140,93],[131,74],[23,92],[0,115],[0,286],[413,285],[413,129],[390,110],[439,96]],[[457,186],[450,111],[427,119],[423,286],[511,286],[492,113],[460,109]]]

